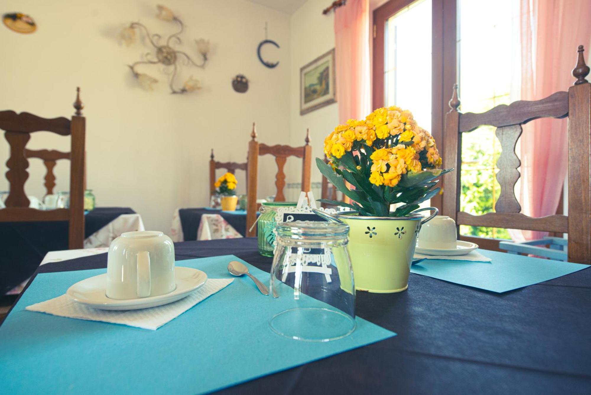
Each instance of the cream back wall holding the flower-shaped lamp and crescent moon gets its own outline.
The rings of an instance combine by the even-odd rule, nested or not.
[[[86,105],[87,185],[95,191],[98,205],[129,206],[141,213],[148,229],[168,231],[175,208],[206,205],[212,147],[217,160],[246,160],[252,121],[257,122],[259,140],[269,144],[290,141],[290,119],[304,131],[310,124],[319,129],[314,133],[315,153],[323,132],[313,122],[294,120],[293,98],[288,94],[295,78],[294,67],[290,67],[294,41],[290,16],[244,0],[165,2],[186,24],[180,49],[196,57],[193,38],[209,38],[212,43],[206,70],[183,66],[178,79],[183,83],[192,74],[202,80],[204,89],[171,95],[166,76],[153,66],[145,70],[160,80],[159,86],[154,92],[139,88],[126,64],[139,60],[150,47],[141,43],[119,46],[116,35],[131,21],[143,22],[152,33],[176,31],[171,22],[155,18],[158,3],[2,2],[5,12],[30,14],[38,30],[24,35],[0,26],[0,109],[69,117],[74,111],[75,88],[80,86]],[[281,46],[280,50],[267,48],[268,59],[280,61],[275,69],[264,67],[255,53],[264,39],[265,21],[269,38]],[[327,24],[332,27],[332,22]],[[318,43],[318,48],[298,47],[294,53],[298,61],[304,64],[316,56],[316,49],[320,54],[332,48],[330,40],[324,40],[328,42]],[[231,87],[238,73],[250,80],[243,94]],[[336,114],[336,106],[316,111],[307,119],[320,119],[322,114]],[[39,132],[28,148],[68,151],[69,138]],[[3,176],[7,158],[8,144],[0,138],[0,190],[8,189]],[[30,163],[25,189],[30,195],[43,196],[43,165],[38,160]],[[259,166],[259,195],[265,196],[274,187],[265,181],[273,177],[274,162],[264,157]],[[58,164],[56,191],[68,189],[68,167],[69,163]],[[238,188],[245,190],[242,175]]]

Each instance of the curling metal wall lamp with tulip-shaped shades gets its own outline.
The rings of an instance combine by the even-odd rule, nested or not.
[[[162,40],[162,36],[160,34],[150,34],[148,28],[145,25],[139,22],[132,22],[128,27],[124,28],[119,34],[119,38],[127,45],[130,46],[135,41],[135,32],[137,30],[144,31],[148,41],[150,42],[151,46],[155,48],[155,54],[152,52],[148,52],[145,54],[145,60],[136,61],[133,64],[129,64],[129,69],[134,74],[134,77],[137,78],[139,84],[142,88],[146,90],[153,90],[154,83],[157,83],[158,80],[154,77],[147,75],[145,73],[141,73],[138,71],[138,66],[142,64],[161,64],[164,66],[164,73],[168,75],[168,85],[170,86],[171,93],[187,93],[193,92],[194,90],[201,89],[199,80],[194,79],[193,76],[190,76],[187,79],[181,88],[174,87],[174,79],[177,75],[178,68],[180,64],[184,66],[194,66],[199,67],[200,69],[204,69],[205,64],[207,63],[207,53],[209,53],[209,40],[204,40],[203,38],[199,38],[199,40],[195,40],[195,44],[197,45],[197,52],[199,52],[201,56],[201,61],[197,63],[189,54],[184,51],[180,51],[174,48],[175,44],[181,44],[183,41],[181,40],[178,35],[183,33],[184,24],[176,15],[174,15],[173,11],[169,8],[164,7],[163,5],[157,5],[158,14],[156,17],[163,20],[163,21],[170,21],[176,22],[180,27],[180,30],[177,33],[171,34],[168,36],[164,43],[160,43]],[[154,59],[155,57],[155,59]]]

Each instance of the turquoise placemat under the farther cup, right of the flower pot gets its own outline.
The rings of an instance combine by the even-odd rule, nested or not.
[[[478,252],[491,258],[492,262],[423,260],[413,264],[410,272],[501,293],[556,279],[589,267],[579,263],[551,261],[498,251]]]

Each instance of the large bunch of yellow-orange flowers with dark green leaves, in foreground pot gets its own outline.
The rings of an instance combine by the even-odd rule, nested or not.
[[[347,206],[359,215],[408,215],[419,203],[439,193],[441,157],[431,134],[408,110],[378,108],[365,120],[349,119],[324,139],[326,164],[316,158],[320,172],[352,203],[321,199]],[[355,189],[349,189],[347,181]],[[393,212],[390,205],[403,203]]]

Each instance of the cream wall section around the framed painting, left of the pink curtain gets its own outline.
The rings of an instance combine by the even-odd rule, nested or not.
[[[308,0],[291,15],[291,145],[303,145],[306,128],[310,128],[313,157],[323,157],[324,137],[339,122],[337,103],[300,115],[300,67],[335,47],[335,14],[323,15],[322,10],[330,4],[326,0]],[[338,67],[336,73],[338,73]],[[339,89],[337,86],[336,89]],[[291,166],[287,174],[290,182],[299,182],[301,167]],[[321,180],[320,171],[312,164],[312,182]],[[317,196],[320,198],[320,196]]]

